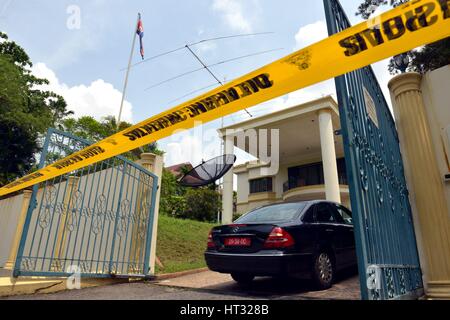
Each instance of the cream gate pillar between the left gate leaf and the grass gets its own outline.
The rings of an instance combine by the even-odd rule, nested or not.
[[[148,171],[154,173],[158,177],[158,191],[155,199],[155,215],[152,226],[152,239],[150,247],[150,273],[155,274],[156,263],[156,240],[158,237],[158,218],[159,218],[159,199],[161,196],[162,171],[164,167],[163,157],[153,153],[143,153],[141,155],[140,164]]]

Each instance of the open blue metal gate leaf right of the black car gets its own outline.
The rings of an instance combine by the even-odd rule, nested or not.
[[[351,26],[338,0],[324,4],[330,35]],[[422,274],[395,122],[370,66],[335,81],[362,298],[417,298]]]

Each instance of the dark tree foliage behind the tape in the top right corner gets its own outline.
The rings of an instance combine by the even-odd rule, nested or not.
[[[358,7],[356,14],[361,15],[364,19],[368,19],[379,6],[390,5],[392,7],[397,7],[408,1],[409,0],[364,0]],[[450,63],[450,37],[423,46],[420,49],[412,50],[408,52],[408,56],[411,60],[411,64],[408,68],[409,71],[423,74],[446,66]],[[389,71],[391,74],[399,72],[392,59],[389,63]]]

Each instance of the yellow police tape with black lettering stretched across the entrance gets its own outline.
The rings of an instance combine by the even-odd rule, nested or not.
[[[450,36],[450,0],[411,0],[0,189],[0,196]]]

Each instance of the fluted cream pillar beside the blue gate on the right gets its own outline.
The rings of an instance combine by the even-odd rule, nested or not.
[[[420,89],[421,80],[418,73],[401,74],[389,82],[389,89],[411,201],[417,210],[426,293],[431,299],[450,299],[449,208]]]

